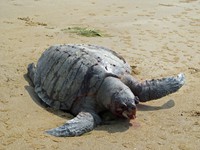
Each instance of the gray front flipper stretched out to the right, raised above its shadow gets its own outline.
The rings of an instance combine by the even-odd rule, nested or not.
[[[146,80],[142,83],[132,76],[124,76],[122,81],[139,97],[140,102],[146,102],[178,91],[185,83],[185,75],[180,73],[176,77]]]

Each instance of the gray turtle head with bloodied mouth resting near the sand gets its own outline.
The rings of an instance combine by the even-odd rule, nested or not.
[[[104,79],[97,94],[97,101],[116,116],[127,119],[136,117],[138,98],[119,78]]]

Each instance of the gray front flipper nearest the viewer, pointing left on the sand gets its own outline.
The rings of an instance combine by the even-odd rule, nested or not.
[[[80,112],[74,119],[64,125],[46,131],[48,134],[58,137],[79,136],[93,130],[100,124],[100,117],[93,112]]]

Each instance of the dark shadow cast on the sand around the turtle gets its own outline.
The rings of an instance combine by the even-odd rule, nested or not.
[[[66,120],[72,119],[73,115],[71,115],[69,112],[61,111],[61,110],[54,110],[53,108],[50,108],[46,103],[44,103],[34,92],[33,83],[28,78],[27,74],[24,75],[25,80],[29,83],[29,86],[25,86],[24,88],[28,91],[29,95],[31,96],[32,100],[45,109],[46,111],[53,113],[61,118],[64,118]],[[155,111],[155,110],[161,110],[161,109],[170,109],[175,105],[173,100],[169,100],[162,106],[148,106],[145,104],[138,104],[137,109],[138,111]],[[102,125],[95,128],[95,130],[103,130],[107,131],[109,133],[116,133],[116,132],[124,132],[128,130],[130,127],[134,126],[132,123],[130,123],[127,119],[117,118],[114,115],[112,115],[109,111],[103,112],[100,114],[102,117]]]

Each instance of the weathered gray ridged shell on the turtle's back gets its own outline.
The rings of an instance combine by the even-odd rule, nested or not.
[[[131,72],[114,51],[94,45],[52,46],[36,68],[36,93],[49,106],[63,110],[70,110],[81,97],[95,96],[105,77]]]

